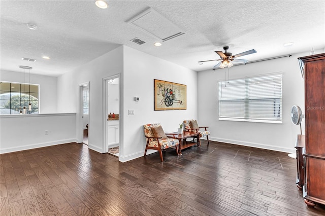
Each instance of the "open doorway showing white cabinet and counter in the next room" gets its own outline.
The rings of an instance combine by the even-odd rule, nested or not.
[[[105,79],[105,151],[119,157],[120,97],[119,76]]]

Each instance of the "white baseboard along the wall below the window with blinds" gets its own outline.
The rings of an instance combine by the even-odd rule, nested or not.
[[[206,139],[206,137],[204,137],[202,139]],[[225,143],[230,143],[230,144],[235,144],[235,145],[240,145],[240,146],[254,147],[254,148],[259,148],[259,149],[268,149],[268,150],[273,150],[273,151],[278,151],[278,152],[287,152],[287,153],[295,153],[296,152],[295,148],[285,148],[285,147],[267,145],[267,144],[257,143],[257,142],[248,142],[248,141],[241,141],[241,140],[235,140],[235,139],[224,139],[224,138],[211,137],[211,136],[209,136],[209,140],[217,141],[217,142],[225,142]]]

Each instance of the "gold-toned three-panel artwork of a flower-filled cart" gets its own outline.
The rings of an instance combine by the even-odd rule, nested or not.
[[[186,85],[154,80],[154,110],[186,110]]]

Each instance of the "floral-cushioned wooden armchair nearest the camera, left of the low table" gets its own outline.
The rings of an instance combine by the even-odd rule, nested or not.
[[[177,155],[179,154],[179,140],[175,139],[175,134],[171,134],[174,138],[168,138],[160,124],[146,124],[143,127],[144,136],[147,138],[144,156],[146,156],[148,149],[157,150],[159,152],[161,161],[164,162],[162,151],[170,147],[175,147]]]

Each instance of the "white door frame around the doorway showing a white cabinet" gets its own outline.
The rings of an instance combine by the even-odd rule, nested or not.
[[[104,145],[103,145],[103,153],[108,152],[108,133],[107,133],[107,127],[108,127],[108,81],[111,79],[116,79],[118,78],[118,113],[119,117],[121,117],[121,100],[120,100],[120,74],[112,75],[110,77],[105,77],[103,78],[103,140],[104,140]],[[119,125],[119,130],[118,130],[118,146],[120,148],[121,146],[121,139],[120,139],[120,134],[121,134],[121,128],[120,128],[120,120],[121,118],[118,119],[118,125]]]

